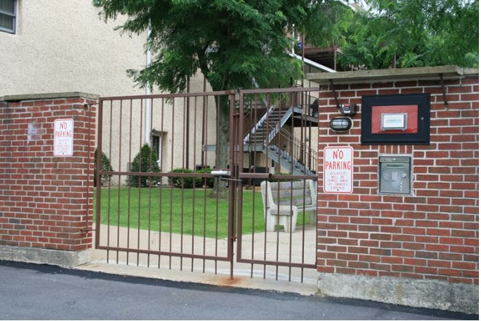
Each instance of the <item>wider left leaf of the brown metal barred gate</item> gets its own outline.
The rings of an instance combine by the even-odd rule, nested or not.
[[[218,220],[221,215],[224,215],[223,213],[219,213],[220,210],[218,203],[220,201],[220,196],[217,195],[214,199],[207,198],[207,187],[204,186],[203,189],[194,187],[192,189],[192,205],[190,203],[187,204],[183,197],[179,200],[181,206],[179,214],[181,220],[181,238],[179,241],[180,248],[178,248],[179,244],[174,244],[174,242],[177,241],[174,241],[174,237],[172,237],[174,234],[174,231],[172,230],[172,219],[174,215],[172,208],[172,203],[174,203],[173,185],[170,184],[168,187],[159,188],[148,183],[148,187],[141,187],[141,181],[145,178],[157,180],[164,179],[165,182],[167,179],[177,177],[181,180],[202,179],[204,182],[207,182],[207,179],[213,177],[213,175],[209,173],[174,173],[170,172],[170,170],[174,168],[174,159],[181,160],[181,164],[183,164],[182,167],[187,167],[187,164],[189,164],[190,168],[195,169],[196,162],[199,161],[197,153],[202,150],[201,146],[197,145],[199,143],[202,143],[202,146],[204,144],[209,144],[208,140],[212,139],[209,138],[209,130],[207,128],[208,115],[216,116],[215,104],[212,103],[212,101],[215,100],[220,102],[220,97],[222,96],[227,97],[227,101],[229,101],[232,109],[235,108],[235,92],[231,90],[224,92],[102,97],[99,99],[99,130],[97,131],[97,148],[99,149],[99,153],[96,157],[96,179],[99,182],[99,187],[96,188],[95,247],[107,251],[108,261],[111,261],[115,257],[116,259],[114,261],[119,263],[119,253],[126,253],[127,264],[129,264],[129,261],[133,258],[130,255],[132,254],[136,257],[136,265],[140,265],[140,258],[142,255],[146,255],[147,266],[149,266],[151,264],[151,256],[157,255],[157,267],[159,268],[161,267],[162,257],[168,257],[167,264],[169,268],[180,268],[181,270],[183,269],[183,264],[181,263],[180,266],[176,266],[176,263],[172,261],[172,257],[178,257],[181,260],[192,260],[190,262],[190,270],[192,271],[194,270],[194,259],[201,259],[203,261],[202,270],[204,272],[206,260],[213,260],[216,262],[216,272],[217,261],[230,261],[231,268],[233,268],[233,242],[235,240],[233,213],[235,212],[235,206],[231,207],[232,214],[229,214],[229,226],[227,227],[229,233],[228,248],[224,248],[224,246],[220,248],[220,242],[218,242]],[[143,121],[144,103],[146,103],[146,100],[151,101],[150,124],[144,124]],[[169,101],[169,104],[166,104],[166,101]],[[166,110],[168,109],[170,109],[169,112],[171,113],[171,119],[166,119],[166,117],[168,117]],[[192,117],[187,117],[187,112],[190,113],[190,116],[194,116],[194,120],[192,120]],[[129,113],[129,116],[125,117],[124,113]],[[202,116],[197,120],[197,118],[200,117],[200,113],[202,113]],[[158,118],[159,115],[161,118],[160,120]],[[156,120],[154,120],[154,116],[157,117]],[[177,120],[180,121],[177,122]],[[235,123],[235,120],[232,119],[231,121],[233,124]],[[176,146],[179,142],[177,141],[177,138],[175,142],[174,139],[172,139],[171,144],[161,145],[161,148],[166,151],[166,154],[170,155],[164,155],[164,160],[160,162],[160,172],[133,172],[133,168],[123,170],[122,163],[125,162],[125,159],[128,157],[127,162],[130,163],[133,160],[133,155],[141,153],[142,151],[144,138],[142,136],[143,126],[146,125],[150,132],[152,132],[154,128],[158,129],[160,127],[160,132],[164,133],[164,124],[168,123],[171,123],[171,132],[169,135],[176,135],[177,138],[181,138],[179,141],[181,141],[180,144],[183,146],[187,146],[187,142],[189,142],[189,144],[192,143],[195,146],[189,151],[186,151],[185,148],[181,147],[179,151],[182,151],[182,155],[174,155]],[[114,131],[114,127],[118,132]],[[128,134],[127,131],[129,132]],[[200,139],[200,135],[197,137],[198,131],[202,133],[202,139]],[[218,131],[210,131],[210,133],[215,133],[215,136],[218,137]],[[107,140],[105,140],[106,144],[103,146],[103,139],[105,138],[107,138]],[[161,144],[161,139],[162,137],[159,138],[159,144]],[[218,144],[217,140],[214,144]],[[101,151],[103,149],[107,152],[109,159],[117,157],[115,166],[112,170],[105,170],[105,168],[102,168],[101,166]],[[118,155],[116,155],[117,151]],[[159,153],[161,152],[162,151],[159,150]],[[122,155],[122,153],[125,153],[125,155]],[[151,154],[152,153],[151,149]],[[169,157],[170,159],[167,161],[165,157]],[[218,157],[216,158],[218,160]],[[142,167],[142,159],[139,159],[139,161],[139,166]],[[168,162],[170,162],[170,168],[168,168]],[[200,156],[201,167],[205,166],[206,163],[207,153],[203,152]],[[114,165],[114,163],[112,163],[112,165]],[[153,164],[144,164],[144,166],[151,167]],[[181,165],[179,164],[179,166]],[[168,170],[166,170],[166,168],[168,168]],[[101,188],[101,177],[105,177],[104,175],[109,176],[109,182],[107,183],[107,186]],[[113,183],[112,178],[114,177],[118,179],[117,183]],[[125,197],[122,197],[121,199],[121,180],[125,177],[135,177],[138,188],[135,190],[135,188],[131,187],[129,184],[129,186],[125,188]],[[235,184],[231,184],[231,186],[232,188],[236,188]],[[159,191],[158,196],[154,196],[156,189]],[[114,192],[118,193],[115,198],[113,196]],[[184,195],[186,192],[187,190],[184,188],[179,188],[179,194]],[[138,197],[138,202],[133,201],[134,194]],[[231,198],[235,198],[235,195],[235,190],[233,190],[231,192]],[[105,197],[103,198],[103,196]],[[153,208],[153,200],[156,197],[157,201],[159,201],[158,209]],[[105,200],[105,207],[102,207],[103,200]],[[203,211],[198,211],[195,207],[196,201],[199,200],[203,200]],[[217,203],[215,209],[216,213],[214,213],[216,217],[216,248],[214,249],[214,254],[212,254],[210,251],[211,249],[206,248],[205,245],[207,238],[206,219],[208,202]],[[122,211],[125,212],[120,213],[120,203],[127,204],[127,208],[125,208],[125,210],[122,209]],[[170,205],[168,205],[166,209],[165,206],[164,208],[162,207],[162,203],[170,203]],[[141,209],[140,205],[148,205],[148,207],[144,210]],[[115,206],[117,209],[114,209]],[[188,206],[192,206],[192,209],[187,210]],[[138,209],[134,209],[135,207],[138,207]],[[155,211],[158,211],[158,213],[155,213]],[[197,222],[196,218],[199,212],[200,215],[203,216],[203,222],[200,224]],[[158,215],[158,222],[153,220],[154,214]],[[192,218],[187,218],[188,215],[192,215]],[[120,224],[121,216],[125,216],[125,219],[127,220],[125,231],[122,232],[120,231],[123,229]],[[105,224],[107,224],[106,227]],[[144,229],[147,229],[145,239],[146,244],[142,244],[142,242],[144,242],[141,237],[142,226],[146,226]],[[116,233],[114,233],[114,229],[116,229]],[[163,231],[157,233],[158,243],[156,242],[157,240],[153,239],[154,229],[157,229],[157,231]],[[187,232],[187,229],[192,229],[192,233],[190,231]],[[199,239],[194,237],[194,231],[197,232],[195,235],[200,235]],[[200,231],[200,234],[198,231]],[[105,235],[103,235],[103,233],[105,233]],[[188,242],[186,241],[187,239],[184,240],[185,237],[189,238]],[[198,244],[198,242],[202,242],[203,244]],[[187,250],[187,246],[192,246],[192,249]],[[197,247],[201,250],[194,251],[194,248]],[[165,261],[162,262],[164,262],[163,264],[166,264]]]

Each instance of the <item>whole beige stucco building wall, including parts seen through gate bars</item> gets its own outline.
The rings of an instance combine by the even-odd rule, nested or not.
[[[99,8],[94,8],[91,0],[18,0],[16,34],[0,32],[0,97],[46,92],[88,92],[101,97],[144,94],[145,90],[134,86],[126,70],[145,66],[146,34],[135,36],[115,31],[114,27],[120,25],[123,19],[105,23],[99,17]],[[203,77],[194,77],[190,86],[191,92],[201,92]],[[126,107],[124,105],[122,110],[124,121],[128,115]],[[177,104],[175,121],[180,123],[175,135],[172,135],[171,105],[166,103],[165,110],[162,143],[163,168],[167,171],[167,168],[182,166],[179,155],[182,154],[183,142],[178,131],[183,111],[179,111]],[[115,106],[113,113],[116,114]],[[211,112],[211,115],[214,113]],[[110,129],[109,112],[104,114],[103,151],[111,155],[115,169],[126,170],[127,163],[139,151],[140,135],[144,136],[140,119],[144,123],[144,117],[144,114],[133,113],[129,144],[125,140],[128,136],[126,128],[120,133],[120,124],[114,121]],[[211,119],[209,127],[213,128],[215,118]],[[153,115],[153,128],[161,129],[159,113]],[[109,138],[111,131],[112,138]],[[173,165],[172,136],[175,136],[173,153],[176,155]],[[212,136],[212,131],[209,136]],[[209,141],[212,144],[211,139]],[[210,163],[213,162],[211,154],[208,158]],[[194,162],[193,152],[191,155],[191,162]],[[199,159],[198,148],[196,163],[200,163]]]

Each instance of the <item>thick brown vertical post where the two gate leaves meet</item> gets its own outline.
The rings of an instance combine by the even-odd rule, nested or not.
[[[234,151],[235,151],[235,137],[234,137],[234,129],[235,123],[234,123],[234,113],[235,113],[235,96],[231,93],[229,96],[230,99],[230,104],[229,104],[229,142],[230,143],[230,149],[229,149],[229,163],[230,163],[230,169],[231,169],[231,177],[233,179],[237,179],[239,177],[237,173],[237,168],[235,168],[235,158],[234,158]],[[235,216],[235,188],[236,188],[236,181],[233,180],[229,184],[229,223],[228,223],[228,230],[229,230],[229,248],[228,248],[228,255],[229,259],[231,260],[231,280],[234,279],[234,257],[233,257],[233,246],[234,246],[234,216]]]

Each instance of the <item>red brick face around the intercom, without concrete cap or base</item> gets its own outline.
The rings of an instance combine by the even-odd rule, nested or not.
[[[431,94],[429,145],[361,145],[361,112],[346,133],[329,129],[341,116],[333,92],[320,90],[317,264],[319,272],[441,279],[478,284],[479,84],[476,77],[441,82],[335,85],[339,103],[372,94]],[[323,150],[354,149],[354,192],[324,194]],[[413,195],[378,194],[378,156],[411,155]]]

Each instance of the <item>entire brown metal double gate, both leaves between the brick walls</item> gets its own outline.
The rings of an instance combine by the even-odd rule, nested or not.
[[[304,269],[315,268],[309,204],[317,194],[310,183],[317,181],[317,153],[309,146],[317,133],[310,94],[317,92],[99,99],[95,247],[117,264],[289,280],[296,268],[303,281]],[[282,198],[284,209],[296,207],[297,229],[266,226],[269,217],[293,215],[281,209],[264,215],[261,181],[270,188],[287,184],[274,186],[274,198]]]

